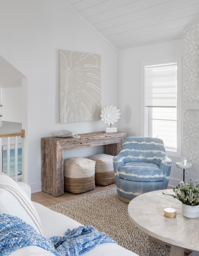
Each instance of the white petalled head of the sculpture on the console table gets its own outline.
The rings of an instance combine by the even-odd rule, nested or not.
[[[113,107],[113,105],[107,107],[104,107],[104,110],[102,110],[102,114],[100,115],[101,120],[104,121],[104,123],[108,124],[114,124],[115,122],[118,122],[119,116],[122,113],[119,113],[120,109],[117,109],[117,107]]]

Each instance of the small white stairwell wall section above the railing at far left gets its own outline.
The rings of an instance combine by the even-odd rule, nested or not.
[[[22,87],[2,88],[2,121],[22,122],[21,100]]]

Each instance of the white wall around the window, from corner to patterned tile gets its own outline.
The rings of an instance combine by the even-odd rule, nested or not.
[[[119,51],[118,108],[121,119],[118,130],[127,132],[127,136],[140,136],[140,81],[141,61],[165,59],[183,55],[183,40],[157,43]],[[182,170],[175,165],[180,158],[172,157],[172,169],[169,185],[176,186],[182,181]]]

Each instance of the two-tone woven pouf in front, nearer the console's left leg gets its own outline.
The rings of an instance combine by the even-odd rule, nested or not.
[[[82,193],[95,188],[95,161],[73,157],[64,160],[64,190]]]

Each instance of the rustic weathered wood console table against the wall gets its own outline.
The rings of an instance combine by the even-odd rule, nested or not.
[[[118,155],[126,133],[84,133],[80,138],[42,138],[42,190],[58,197],[64,194],[64,150],[106,145],[107,155]]]

